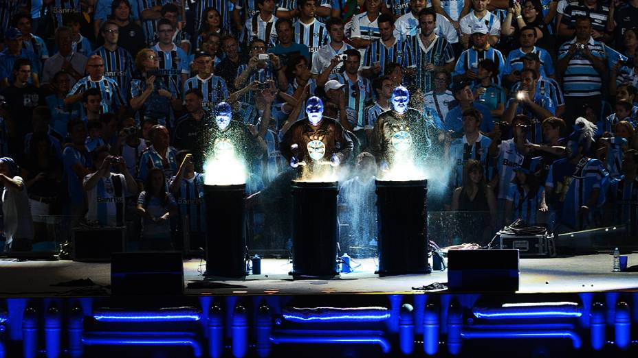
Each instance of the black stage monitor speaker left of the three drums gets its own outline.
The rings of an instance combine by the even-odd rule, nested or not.
[[[111,256],[111,293],[184,294],[181,252],[114,252]]]

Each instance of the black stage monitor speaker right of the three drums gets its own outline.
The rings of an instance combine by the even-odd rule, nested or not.
[[[518,250],[449,250],[448,289],[518,291]]]

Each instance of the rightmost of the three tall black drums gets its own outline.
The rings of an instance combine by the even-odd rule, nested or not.
[[[428,180],[375,182],[380,276],[429,274]]]

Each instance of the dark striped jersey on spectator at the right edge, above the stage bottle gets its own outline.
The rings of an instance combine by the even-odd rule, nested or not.
[[[614,204],[614,223],[630,224],[630,232],[635,232],[638,223],[638,178],[630,181],[620,176],[612,180],[609,200]]]

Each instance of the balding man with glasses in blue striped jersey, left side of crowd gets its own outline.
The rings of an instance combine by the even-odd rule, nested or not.
[[[98,55],[89,57],[87,62],[87,77],[79,80],[64,100],[64,104],[70,106],[82,99],[82,94],[89,88],[98,88],[102,93],[102,113],[115,112],[120,106],[126,104],[118,82],[104,76],[104,60]]]

